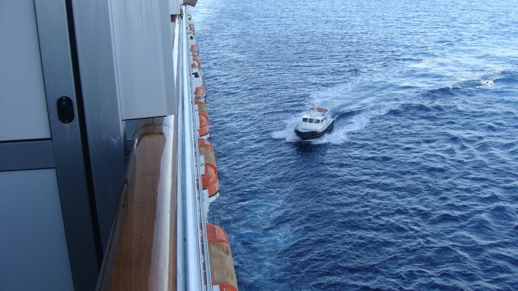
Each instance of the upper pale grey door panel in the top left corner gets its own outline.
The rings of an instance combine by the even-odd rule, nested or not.
[[[50,138],[33,0],[0,1],[0,140]]]

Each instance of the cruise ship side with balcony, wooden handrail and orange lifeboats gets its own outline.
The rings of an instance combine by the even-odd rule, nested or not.
[[[189,10],[0,3],[2,291],[237,291]]]

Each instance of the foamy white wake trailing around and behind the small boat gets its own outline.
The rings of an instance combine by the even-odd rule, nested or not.
[[[434,60],[435,61],[435,60]],[[437,62],[444,60],[438,59]],[[357,76],[350,82],[323,88],[309,95],[310,104],[318,102],[328,108],[336,119],[334,128],[322,137],[309,140],[313,144],[342,144],[348,141],[348,133],[364,129],[372,118],[397,110],[401,105],[425,101],[423,96],[437,88],[482,88],[495,86],[493,81],[502,74],[502,69],[485,69],[474,74],[470,71],[445,74],[434,82],[420,80],[422,71],[434,70],[429,66],[435,64],[424,60],[418,65],[393,68],[377,74]],[[415,69],[422,71],[414,71]],[[410,76],[410,77],[409,77]],[[300,115],[285,120],[285,128],[272,133],[275,139],[286,142],[300,142],[293,129],[300,122]]]

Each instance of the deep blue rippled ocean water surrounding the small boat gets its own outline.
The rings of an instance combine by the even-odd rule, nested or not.
[[[517,1],[191,11],[240,290],[518,290]]]

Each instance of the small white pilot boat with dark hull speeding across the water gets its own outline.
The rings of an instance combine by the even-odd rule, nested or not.
[[[314,107],[302,117],[302,121],[295,127],[295,134],[302,140],[315,139],[321,137],[328,132],[335,123],[335,119],[327,109],[318,107],[315,103]]]

